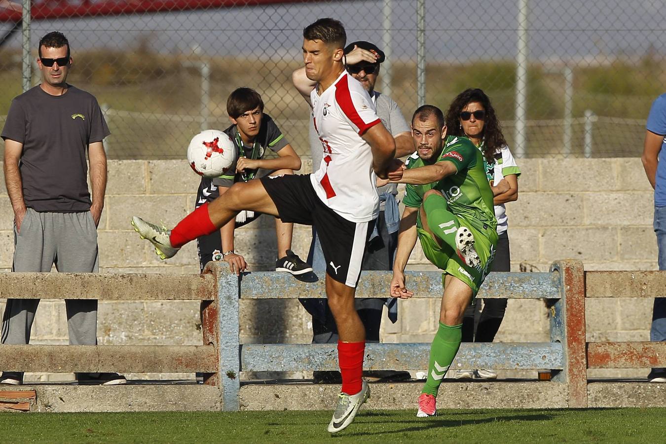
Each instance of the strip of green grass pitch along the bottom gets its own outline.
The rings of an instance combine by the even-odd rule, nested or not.
[[[5,413],[1,443],[663,443],[666,408],[361,411],[326,432],[330,411]]]

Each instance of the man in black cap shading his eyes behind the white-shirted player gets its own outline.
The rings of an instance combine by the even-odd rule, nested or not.
[[[396,157],[406,156],[414,152],[414,143],[410,126],[406,122],[398,104],[390,97],[374,91],[374,86],[380,71],[380,64],[385,60],[384,53],[367,41],[356,41],[350,43],[344,49],[347,71],[358,80],[368,91],[377,109],[377,115],[382,124],[388,129],[396,140]],[[294,75],[294,83],[307,78],[302,75]],[[310,150],[312,152],[312,170],[317,170],[322,164],[324,150],[322,142],[314,129],[310,119]],[[376,232],[370,238],[366,246],[366,255],[362,263],[362,270],[392,270],[393,258],[398,245],[398,225],[400,215],[398,214],[397,184],[388,184],[388,180],[378,179],[378,193],[380,194],[380,214],[376,221]],[[312,230],[312,244],[308,262],[312,268],[325,270],[326,263],[322,254],[316,232]],[[334,343],[338,341],[338,333],[335,322],[326,305],[325,300],[302,299],[301,304],[312,315],[312,341],[314,343]],[[382,321],[382,309],[385,298],[357,298],[356,310],[366,328],[366,342],[379,342],[379,330]],[[396,300],[390,300],[390,304],[396,304]],[[389,311],[389,318],[395,322],[397,312],[395,308]],[[368,376],[390,377],[400,379],[409,377],[406,372],[374,372]],[[315,371],[315,381],[334,382],[339,377],[335,371]]]

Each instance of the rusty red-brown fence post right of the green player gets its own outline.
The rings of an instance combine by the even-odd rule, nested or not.
[[[567,384],[569,407],[587,407],[587,353],[585,339],[585,272],[578,260],[551,265],[559,272],[562,295],[550,308],[550,338],[562,344],[562,371],[553,371],[553,381]]]

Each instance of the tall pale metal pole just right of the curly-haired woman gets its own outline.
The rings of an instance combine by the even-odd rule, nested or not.
[[[518,45],[515,55],[515,156],[526,152],[527,118],[527,1],[518,0]]]

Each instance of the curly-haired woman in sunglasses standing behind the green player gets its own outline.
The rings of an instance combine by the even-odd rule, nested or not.
[[[466,136],[484,153],[484,166],[494,194],[495,216],[498,220],[498,246],[493,261],[493,272],[511,270],[507,216],[504,204],[518,198],[520,169],[504,140],[500,122],[490,99],[481,89],[466,89],[451,103],[446,112],[448,134]],[[506,310],[506,299],[484,300],[479,324],[474,332],[474,317],[480,304],[470,306],[462,324],[463,342],[492,342],[500,329]],[[456,379],[496,379],[492,370],[456,370]]]

